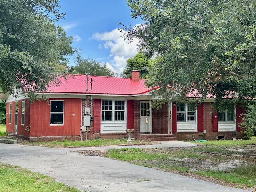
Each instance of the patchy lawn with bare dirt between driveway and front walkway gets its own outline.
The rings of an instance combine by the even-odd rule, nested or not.
[[[254,137],[251,140],[202,142],[193,148],[120,149],[90,153],[226,186],[256,190],[255,146]],[[80,153],[88,155],[86,151]]]

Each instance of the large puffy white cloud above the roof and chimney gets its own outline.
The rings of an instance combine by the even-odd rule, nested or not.
[[[126,60],[135,56],[138,53],[139,40],[134,38],[132,42],[128,43],[121,37],[123,33],[117,28],[104,33],[94,33],[92,38],[104,42],[103,47],[110,48],[110,56],[113,57],[108,63],[112,68],[120,74],[126,65]],[[100,44],[102,48],[102,44]]]

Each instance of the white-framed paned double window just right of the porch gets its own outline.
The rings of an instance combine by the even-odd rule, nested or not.
[[[195,104],[177,104],[177,122],[196,122]]]

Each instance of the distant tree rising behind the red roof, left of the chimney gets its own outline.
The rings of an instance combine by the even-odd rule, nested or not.
[[[68,72],[70,74],[90,74],[97,76],[116,76],[116,72],[108,68],[107,64],[101,64],[95,59],[84,59],[80,54],[76,55],[75,66],[72,66]]]

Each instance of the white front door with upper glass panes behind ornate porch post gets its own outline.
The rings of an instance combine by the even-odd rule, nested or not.
[[[140,102],[140,132],[141,133],[150,133],[151,130],[151,112],[150,112],[150,103],[146,101]],[[148,127],[148,129],[147,129]]]

